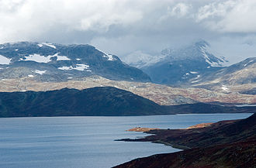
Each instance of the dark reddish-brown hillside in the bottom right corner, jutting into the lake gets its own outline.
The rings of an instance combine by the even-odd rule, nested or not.
[[[192,149],[134,159],[116,168],[252,168],[256,166],[256,114],[242,120],[216,122],[205,128],[155,129],[148,133],[156,134],[149,136],[152,139],[171,144],[178,143]],[[151,138],[146,137],[144,140]]]

